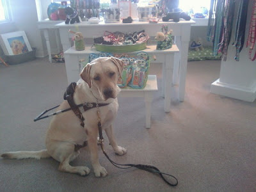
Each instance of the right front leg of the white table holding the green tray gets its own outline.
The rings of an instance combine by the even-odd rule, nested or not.
[[[174,54],[165,55],[164,112],[170,112]]]

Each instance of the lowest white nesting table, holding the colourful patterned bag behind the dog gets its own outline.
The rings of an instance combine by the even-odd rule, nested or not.
[[[150,128],[151,105],[154,93],[157,92],[157,79],[155,75],[149,75],[143,89],[122,88],[118,97],[144,97],[146,111],[146,128]]]

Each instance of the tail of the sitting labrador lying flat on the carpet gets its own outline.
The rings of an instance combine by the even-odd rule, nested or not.
[[[48,158],[51,157],[47,149],[38,150],[38,151],[17,151],[17,152],[6,152],[1,154],[1,157],[6,159],[40,159],[40,158]]]

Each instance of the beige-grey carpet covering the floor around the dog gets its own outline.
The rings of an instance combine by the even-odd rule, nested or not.
[[[256,102],[243,102],[210,93],[218,79],[220,61],[188,63],[184,102],[173,91],[172,111],[164,113],[161,65],[152,65],[159,92],[152,103],[152,127],[145,129],[143,99],[119,99],[115,121],[125,156],[109,156],[118,163],[152,164],[179,179],[169,187],[155,174],[115,168],[100,152],[108,177],[97,179],[58,171],[54,159],[0,159],[0,191],[255,191]],[[58,105],[67,86],[63,63],[38,59],[0,66],[0,153],[40,150],[50,119],[33,122],[43,110]],[[106,136],[105,136],[106,137]],[[107,141],[106,141],[107,143]],[[88,166],[88,150],[74,166]]]

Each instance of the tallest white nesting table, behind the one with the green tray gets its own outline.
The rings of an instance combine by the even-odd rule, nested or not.
[[[100,22],[99,24],[89,24],[88,22],[81,22],[79,24],[65,24],[62,22],[57,24],[56,27],[60,30],[61,44],[63,51],[67,51],[70,47],[70,39],[72,34],[68,32],[68,29],[73,31],[81,31],[84,38],[93,38],[102,36],[104,31],[121,31],[123,33],[141,31],[145,29],[149,36],[156,36],[156,33],[161,31],[163,24],[168,25],[168,29],[173,30],[173,35],[175,36],[175,43],[179,47],[180,54],[175,56],[174,63],[174,74],[179,74],[179,100],[184,101],[185,96],[185,84],[186,84],[186,74],[187,74],[187,64],[188,64],[188,47],[190,40],[190,29],[191,24],[195,24],[193,20],[180,20],[179,22],[158,22],[157,24],[151,24],[148,22],[132,22],[130,24],[123,23],[108,23]],[[92,44],[91,44],[92,45]],[[168,57],[168,56],[166,56]],[[168,61],[168,60],[166,60]],[[166,65],[168,67],[168,65]],[[165,67],[166,67],[165,66]],[[170,74],[168,74],[169,76]],[[174,79],[177,79],[175,77]],[[167,82],[166,82],[167,84]],[[176,82],[175,82],[176,84]],[[168,84],[168,86],[172,86]]]

